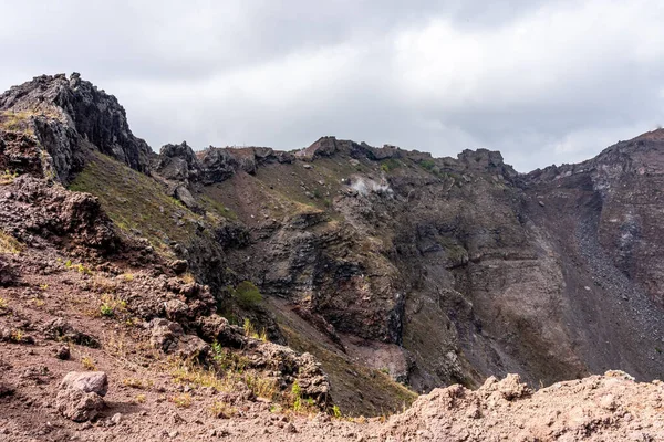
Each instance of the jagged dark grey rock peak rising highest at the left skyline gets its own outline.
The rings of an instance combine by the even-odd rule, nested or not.
[[[0,122],[0,129],[12,131],[17,125],[28,128],[51,157],[62,181],[81,169],[90,148],[133,169],[149,169],[149,146],[132,134],[124,108],[113,95],[81,80],[77,73],[69,78],[64,74],[42,75],[14,86],[0,96],[0,112],[12,123]]]

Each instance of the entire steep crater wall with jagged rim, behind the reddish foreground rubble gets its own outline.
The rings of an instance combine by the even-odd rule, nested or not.
[[[96,196],[123,241],[186,262],[217,313],[313,354],[347,412],[412,400],[385,372],[416,391],[508,372],[661,377],[660,133],[519,176],[485,149],[334,137],[154,155],[77,75],[38,77],[0,108],[8,181],[54,171]]]

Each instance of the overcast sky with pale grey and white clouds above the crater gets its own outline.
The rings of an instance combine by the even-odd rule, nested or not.
[[[80,72],[153,149],[335,135],[519,171],[664,124],[664,2],[0,0],[0,90]]]

